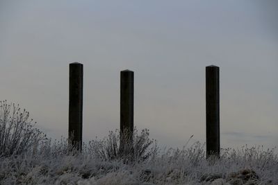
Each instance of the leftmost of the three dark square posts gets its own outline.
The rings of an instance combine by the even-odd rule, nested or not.
[[[82,150],[83,64],[78,62],[70,64],[69,99],[69,141]]]

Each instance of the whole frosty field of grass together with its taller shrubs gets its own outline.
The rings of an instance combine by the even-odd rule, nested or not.
[[[0,102],[0,184],[278,184],[275,148],[226,148],[206,159],[203,143],[163,149],[149,130],[134,130],[133,142],[116,130],[80,152],[47,139],[28,117]]]

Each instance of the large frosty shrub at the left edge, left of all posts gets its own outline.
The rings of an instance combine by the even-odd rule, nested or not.
[[[34,124],[25,109],[22,112],[19,105],[0,101],[0,156],[35,152],[46,135]]]

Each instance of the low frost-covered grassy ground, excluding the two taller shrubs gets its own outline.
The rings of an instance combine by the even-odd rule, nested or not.
[[[1,157],[0,184],[278,184],[277,154],[263,148],[228,148],[206,160],[204,145],[194,143],[129,163],[101,160],[90,146],[73,155],[65,143]]]

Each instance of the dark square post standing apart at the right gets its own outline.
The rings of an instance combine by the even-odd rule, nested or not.
[[[206,158],[220,155],[219,67],[206,67]]]

